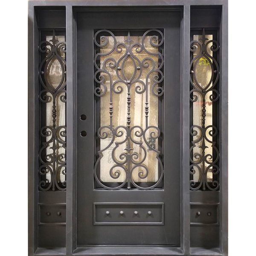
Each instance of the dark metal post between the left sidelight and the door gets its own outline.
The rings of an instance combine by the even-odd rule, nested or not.
[[[75,68],[75,20],[72,5],[66,6],[67,38],[67,226],[66,251],[72,255],[75,250],[76,223],[76,73]]]

